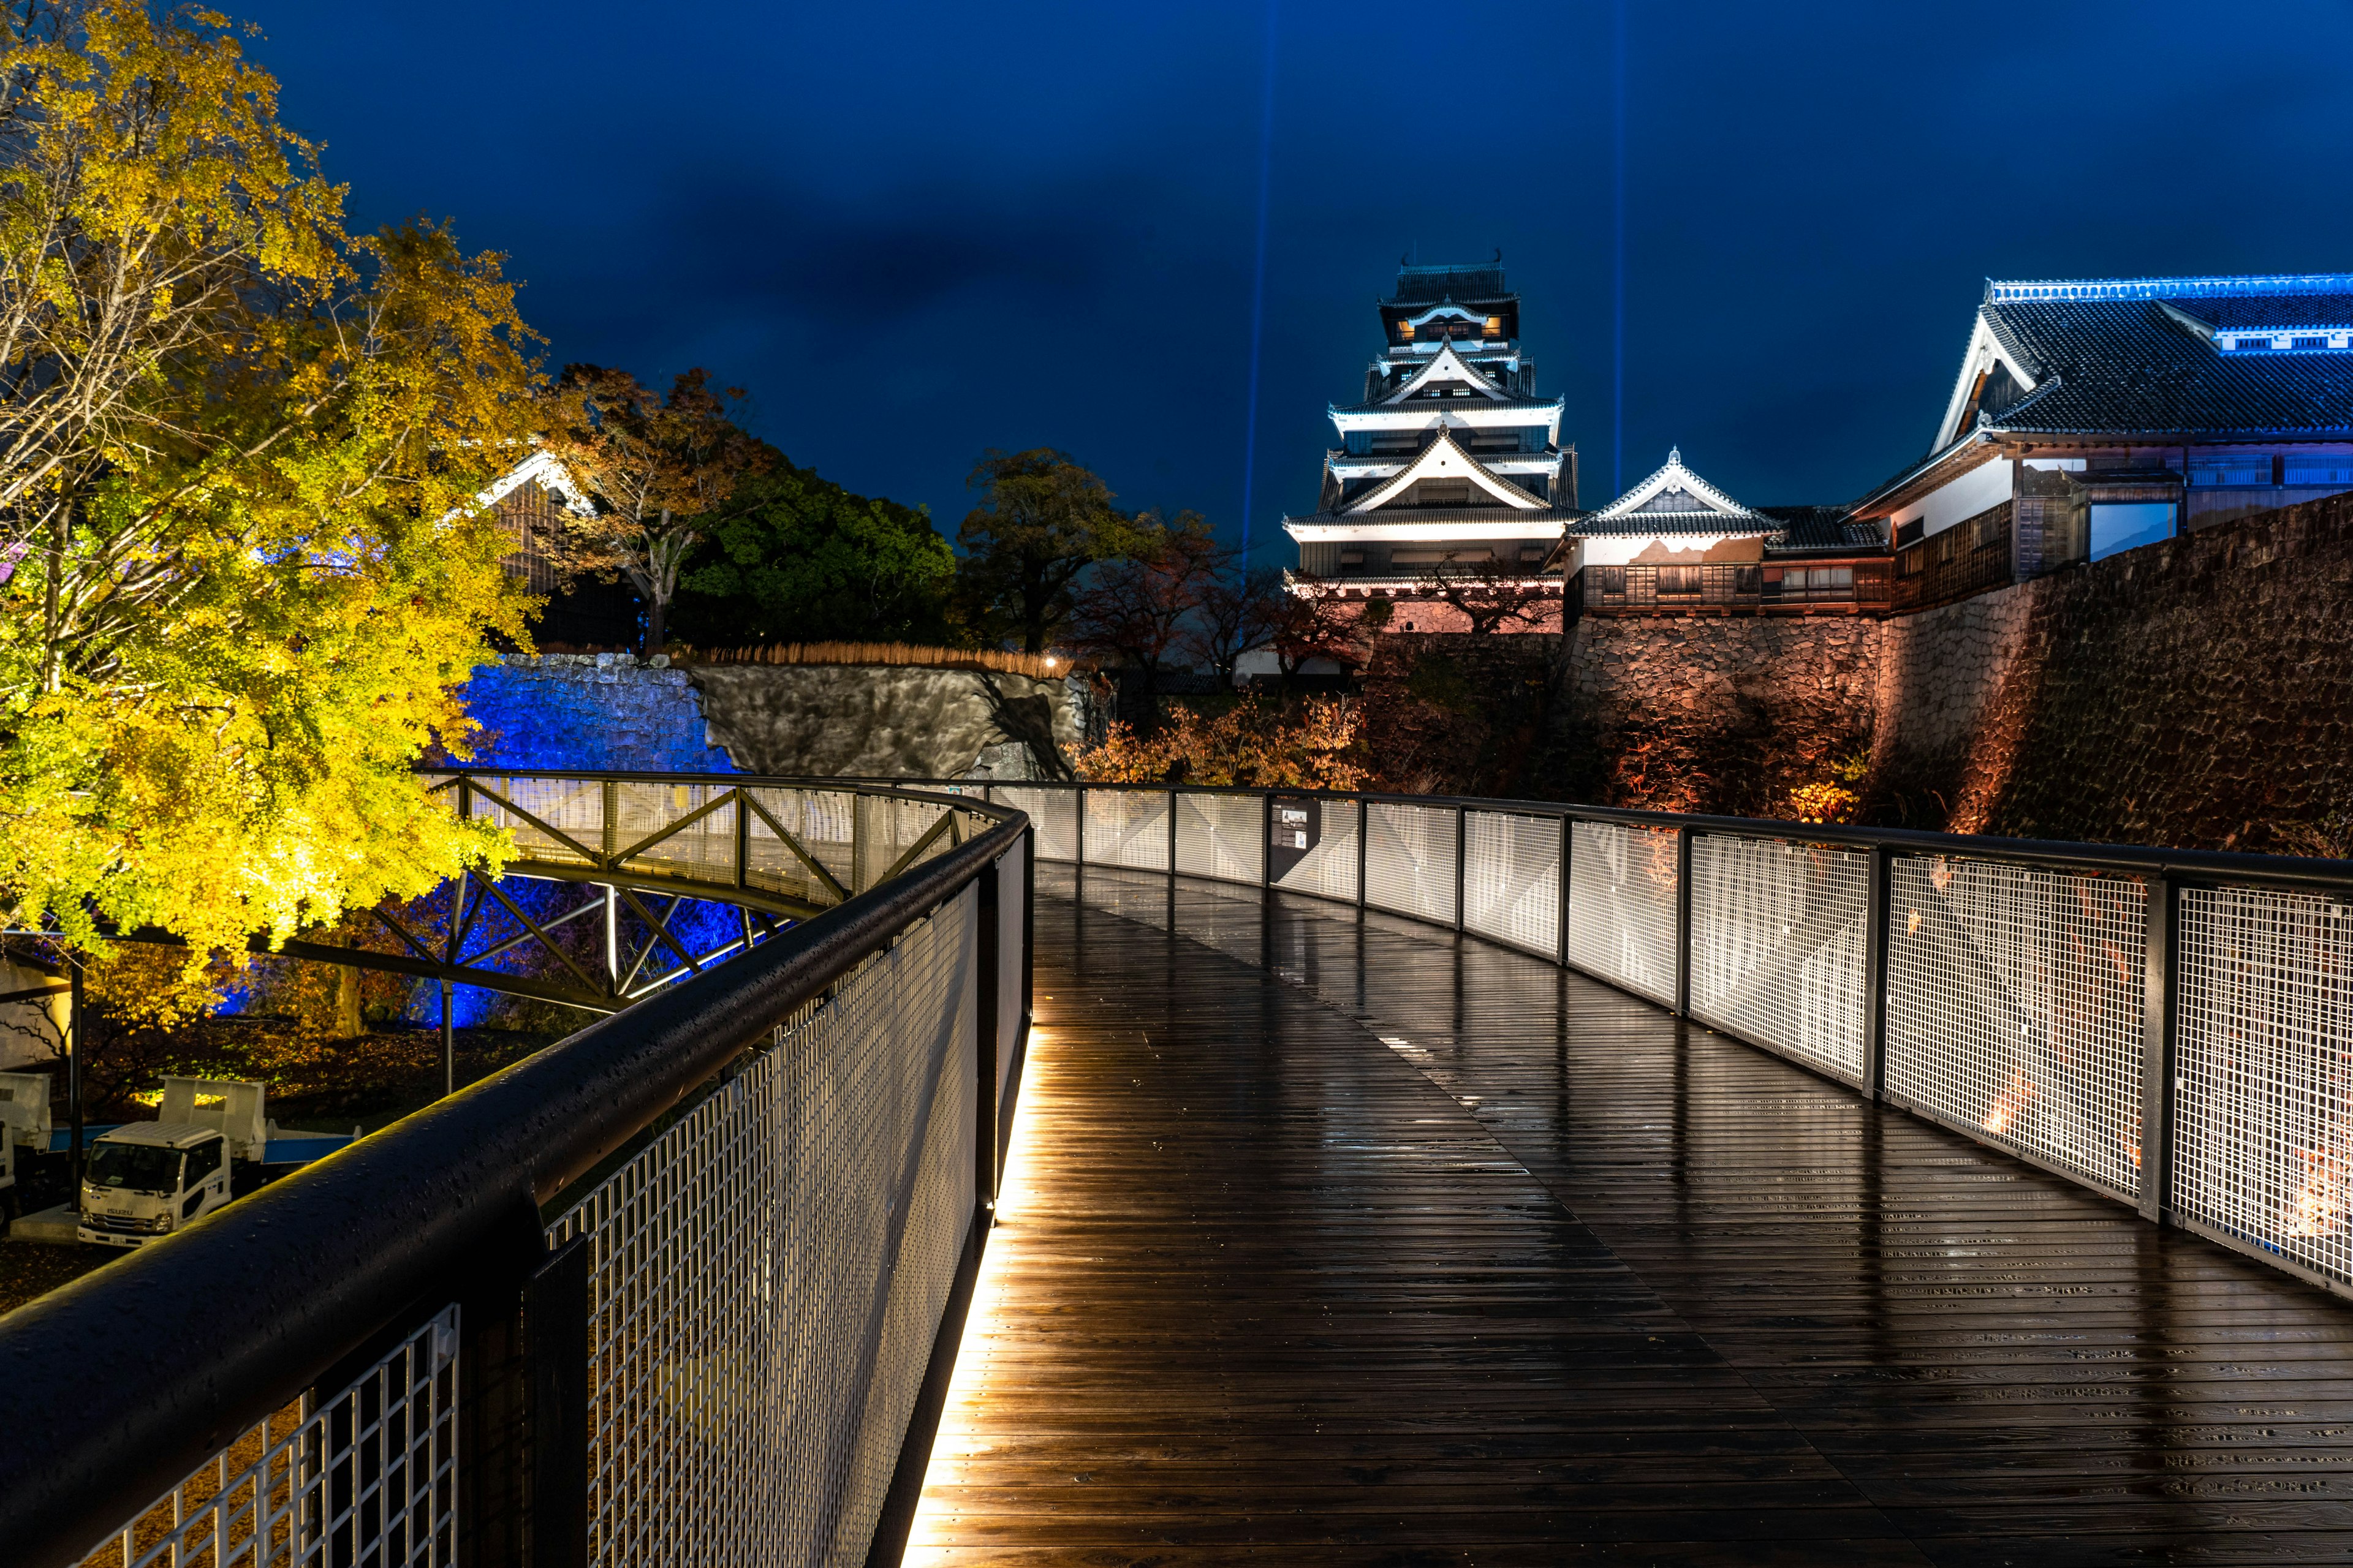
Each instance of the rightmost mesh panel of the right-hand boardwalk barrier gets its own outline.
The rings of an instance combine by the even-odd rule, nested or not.
[[[2184,889],[2174,1206],[2353,1279],[2353,903]]]

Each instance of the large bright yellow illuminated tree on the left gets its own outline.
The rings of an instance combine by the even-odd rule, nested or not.
[[[12,12],[0,54],[0,905],[191,959],[499,842],[412,776],[529,599],[478,496],[534,336],[447,223],[348,235],[224,16]],[[195,973],[191,969],[191,973]]]

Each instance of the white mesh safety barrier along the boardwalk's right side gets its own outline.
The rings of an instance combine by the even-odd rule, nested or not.
[[[2344,860],[1313,790],[986,795],[1056,825],[1045,860],[1520,947],[2353,1293]]]

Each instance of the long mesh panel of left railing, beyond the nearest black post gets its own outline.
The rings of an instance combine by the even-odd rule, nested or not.
[[[591,1258],[593,1563],[861,1563],[974,1213],[965,889],[548,1227]]]

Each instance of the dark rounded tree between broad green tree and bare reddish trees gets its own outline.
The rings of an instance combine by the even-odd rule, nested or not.
[[[1099,477],[1052,447],[991,451],[965,484],[979,503],[955,531],[962,614],[979,635],[1042,654],[1071,621],[1080,574],[1129,555],[1136,527]]]

